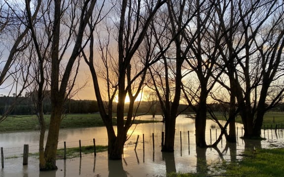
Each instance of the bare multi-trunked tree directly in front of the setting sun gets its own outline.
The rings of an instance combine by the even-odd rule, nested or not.
[[[117,83],[114,84],[115,89],[110,94],[110,83],[109,77],[109,68],[106,64],[106,57],[103,59],[106,67],[106,84],[107,84],[107,94],[108,94],[108,110],[104,105],[104,100],[102,96],[102,91],[99,87],[98,75],[96,68],[94,67],[94,52],[93,52],[93,33],[91,33],[91,42],[90,42],[90,54],[87,58],[85,55],[85,60],[89,65],[95,94],[98,100],[100,114],[103,118],[103,121],[106,125],[107,136],[108,136],[108,157],[110,159],[121,159],[123,146],[127,140],[127,132],[132,124],[133,113],[134,113],[134,103],[138,97],[142,87],[143,81],[146,74],[146,65],[149,64],[149,59],[145,59],[139,66],[139,63],[136,63],[136,53],[140,47],[146,31],[158,9],[165,3],[165,0],[122,0],[119,8],[115,8],[114,11],[119,12],[119,19],[117,20],[117,42],[118,55],[117,58],[111,58],[115,61],[118,71],[117,74]],[[116,5],[117,6],[117,5]],[[93,28],[91,25],[90,28]],[[110,32],[107,30],[106,32]],[[111,34],[108,35],[108,37]],[[102,51],[102,50],[101,50]],[[109,52],[108,49],[106,49]],[[105,54],[104,54],[105,55]],[[106,54],[107,55],[107,54]],[[103,55],[102,55],[103,57]],[[117,88],[117,89],[116,89]],[[113,104],[113,99],[115,92],[117,94],[117,132],[115,133],[114,127],[112,126],[112,111],[111,108]],[[126,116],[126,121],[124,121],[124,107],[125,107],[125,98],[129,96],[129,108]]]

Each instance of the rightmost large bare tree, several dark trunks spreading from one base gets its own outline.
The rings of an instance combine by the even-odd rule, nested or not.
[[[230,90],[231,103],[236,96],[244,123],[244,137],[260,137],[264,113],[283,97],[283,91],[279,89],[274,101],[267,99],[269,90],[275,88],[271,84],[282,77],[279,51],[283,49],[283,34],[275,29],[283,23],[283,2],[232,0],[228,4],[231,13],[224,15],[226,10],[220,7],[217,10],[226,42],[226,48],[219,51],[222,59],[229,62],[225,67],[230,87],[225,83],[222,85]],[[228,17],[231,20],[226,20]],[[270,45],[272,41],[275,45]],[[277,88],[282,88],[282,84]],[[268,102],[272,104],[265,107]],[[259,115],[257,119],[256,115]]]

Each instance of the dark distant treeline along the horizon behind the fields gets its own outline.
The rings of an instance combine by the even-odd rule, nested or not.
[[[17,102],[15,103],[15,100]],[[0,97],[0,114],[4,114],[7,109],[11,105],[15,104],[10,115],[34,115],[36,114],[34,101],[32,97],[9,97],[3,96]],[[138,105],[139,104],[139,105]],[[158,104],[158,103],[157,103]],[[146,101],[142,101],[140,103],[137,102],[136,107],[139,106],[137,111],[138,114],[153,114],[153,110],[149,107],[149,103]],[[209,104],[210,109],[214,112],[225,112],[228,108],[228,105],[224,104]],[[98,103],[96,100],[67,100],[65,103],[65,114],[89,114],[89,113],[97,113],[99,112]],[[126,103],[125,111],[127,111],[128,106]],[[155,115],[162,114],[161,108],[159,105],[155,105]],[[284,111],[284,104],[279,104],[274,108],[274,111]],[[44,114],[50,114],[51,112],[51,103],[48,97],[43,100],[43,112]],[[116,104],[113,104],[113,112],[116,113]],[[179,112],[183,112],[183,114],[194,112],[191,107],[187,105],[180,104]]]

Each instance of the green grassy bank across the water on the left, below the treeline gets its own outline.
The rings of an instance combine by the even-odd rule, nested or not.
[[[44,116],[45,123],[49,125],[50,115]],[[135,120],[134,123],[149,123],[157,122],[154,120]],[[113,124],[116,124],[113,118]],[[79,127],[95,127],[104,126],[104,122],[100,114],[80,114],[80,115],[66,115],[62,119],[60,128],[79,128]],[[33,116],[15,116],[8,117],[0,123],[0,132],[5,131],[21,131],[21,130],[37,130],[38,120],[35,115]]]

